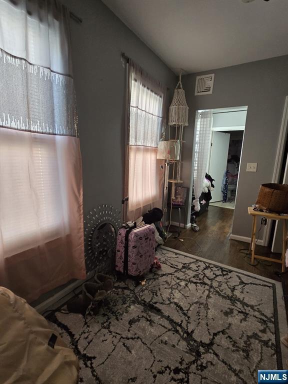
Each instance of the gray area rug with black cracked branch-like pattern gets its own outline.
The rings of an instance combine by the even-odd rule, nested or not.
[[[85,384],[257,382],[282,369],[275,284],[160,248],[145,286],[117,282],[100,313],[49,320]]]

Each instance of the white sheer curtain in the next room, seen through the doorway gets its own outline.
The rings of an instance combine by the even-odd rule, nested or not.
[[[194,170],[193,188],[195,199],[192,201],[196,211],[200,210],[199,197],[202,193],[211,144],[213,114],[211,110],[196,111],[194,134]]]

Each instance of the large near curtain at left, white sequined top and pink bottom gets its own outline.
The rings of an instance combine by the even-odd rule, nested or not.
[[[0,285],[32,301],[86,275],[68,12],[0,0],[0,30]]]

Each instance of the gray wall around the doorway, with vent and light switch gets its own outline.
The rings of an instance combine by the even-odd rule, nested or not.
[[[247,206],[255,202],[260,184],[272,178],[284,97],[288,94],[288,55],[201,74],[204,73],[215,73],[211,95],[194,96],[195,77],[199,73],[182,77],[189,106],[189,126],[184,128],[182,177],[189,186],[195,111],[248,105],[232,233],[249,237],[251,220]],[[247,162],[258,163],[256,173],[246,172]]]

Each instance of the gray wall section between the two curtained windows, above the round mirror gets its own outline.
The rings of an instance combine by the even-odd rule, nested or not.
[[[83,164],[84,213],[120,207],[124,161],[125,68],[121,51],[173,91],[175,74],[99,0],[64,0],[70,21]]]

